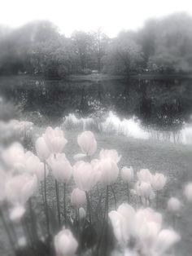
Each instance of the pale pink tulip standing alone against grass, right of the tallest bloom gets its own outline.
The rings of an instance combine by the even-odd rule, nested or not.
[[[97,150],[97,141],[94,138],[93,132],[87,130],[78,135],[77,143],[81,148],[81,151],[84,152],[87,156],[94,155],[94,152]]]

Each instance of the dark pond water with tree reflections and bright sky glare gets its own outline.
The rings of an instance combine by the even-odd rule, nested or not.
[[[108,121],[103,130],[113,123],[111,129],[119,129],[124,135],[131,135],[132,130],[137,132],[137,136],[132,132],[133,137],[192,143],[190,79],[63,81],[1,77],[0,95],[19,104],[32,119],[36,113],[57,122],[71,113],[76,119],[97,118],[102,124]]]

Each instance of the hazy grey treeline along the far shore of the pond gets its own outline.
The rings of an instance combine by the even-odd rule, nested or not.
[[[192,17],[185,13],[148,20],[137,32],[108,38],[101,29],[75,31],[70,38],[49,21],[19,29],[0,28],[0,74],[190,73]]]

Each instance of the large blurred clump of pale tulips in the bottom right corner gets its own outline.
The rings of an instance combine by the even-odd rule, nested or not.
[[[180,239],[172,230],[161,230],[162,216],[151,208],[135,211],[132,206],[122,204],[109,213],[109,218],[121,249],[124,253],[130,249],[128,255],[137,255],[139,251],[141,255],[162,256]]]

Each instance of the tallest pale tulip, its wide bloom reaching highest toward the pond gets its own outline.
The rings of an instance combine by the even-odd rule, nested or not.
[[[42,135],[46,144],[52,153],[60,153],[63,151],[64,146],[68,140],[64,138],[63,130],[59,127],[55,129],[51,127],[46,128],[45,134]]]

